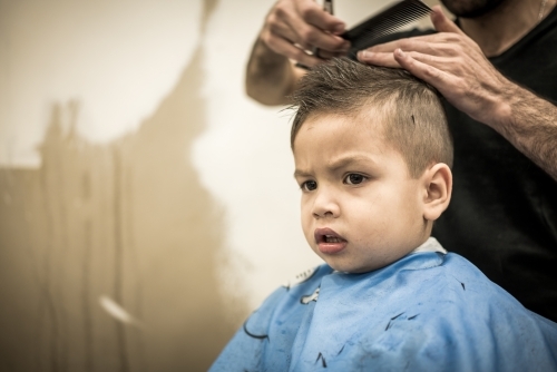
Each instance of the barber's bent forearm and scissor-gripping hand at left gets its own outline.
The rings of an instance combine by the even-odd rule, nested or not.
[[[246,68],[246,92],[263,105],[289,104],[304,70],[324,59],[344,55],[350,45],[339,37],[344,23],[325,12],[314,0],[278,0],[255,41]],[[319,48],[312,56],[306,50]]]

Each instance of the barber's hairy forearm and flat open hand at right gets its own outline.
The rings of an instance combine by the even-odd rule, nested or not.
[[[557,107],[505,78],[440,8],[432,21],[439,33],[372,47],[359,60],[402,67],[431,84],[557,180]]]

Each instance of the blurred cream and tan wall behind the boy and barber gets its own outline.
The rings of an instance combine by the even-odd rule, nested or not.
[[[205,371],[320,263],[243,89],[273,2],[0,0],[0,371]]]

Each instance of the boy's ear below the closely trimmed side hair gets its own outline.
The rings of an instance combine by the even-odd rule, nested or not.
[[[452,173],[447,164],[437,163],[423,174],[423,218],[436,221],[449,206]]]

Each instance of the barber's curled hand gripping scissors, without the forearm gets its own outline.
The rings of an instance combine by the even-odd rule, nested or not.
[[[278,0],[265,19],[260,39],[275,53],[313,67],[343,56],[350,42],[339,37],[345,25],[314,0]],[[319,48],[319,57],[304,50]]]

